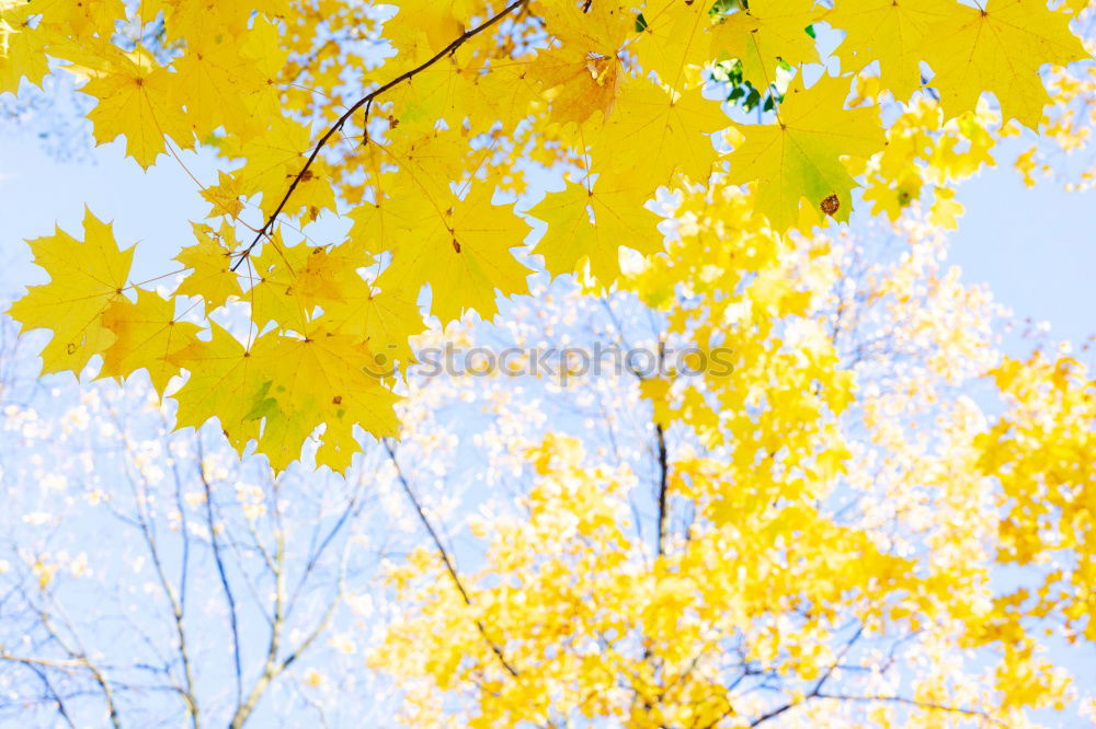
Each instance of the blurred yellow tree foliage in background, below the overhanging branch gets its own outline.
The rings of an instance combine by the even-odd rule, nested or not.
[[[927,211],[887,258],[781,235],[733,187],[673,200],[666,254],[621,286],[666,315],[660,342],[733,368],[636,373],[649,471],[594,451],[612,416],[549,431],[516,507],[472,520],[473,567],[392,567],[410,610],[372,660],[401,719],[1040,726],[1028,709],[1075,696],[1047,639],[1092,639],[1084,368],[1002,362],[998,309]],[[955,396],[991,369],[993,424]],[[1000,580],[1016,564],[1034,587]]]

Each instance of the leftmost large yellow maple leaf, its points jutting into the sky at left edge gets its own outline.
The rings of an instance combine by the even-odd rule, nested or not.
[[[84,241],[59,228],[53,235],[27,241],[34,263],[49,274],[49,284],[32,286],[9,313],[21,332],[54,331],[42,350],[44,372],[79,374],[94,355],[114,343],[103,325],[103,312],[123,301],[134,250],[119,251],[110,223],[84,211]]]

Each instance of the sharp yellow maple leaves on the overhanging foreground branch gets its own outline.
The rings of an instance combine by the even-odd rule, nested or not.
[[[102,375],[148,370],[161,395],[186,372],[181,426],[216,417],[275,468],[322,427],[318,461],[343,470],[356,426],[397,430],[377,372],[412,361],[427,289],[443,324],[527,290],[529,224],[503,200],[530,171],[567,178],[528,210],[547,223],[533,253],[603,286],[623,246],[665,255],[647,207],[663,188],[744,186],[777,234],[846,220],[857,175],[894,182],[878,99],[938,100],[918,119],[935,134],[991,92],[1003,123],[1035,127],[1040,70],[1088,57],[1081,4],[0,0],[0,92],[72,73],[100,143],[123,138],[145,169],[197,147],[220,162],[171,297],[129,280],[132,251],[89,212],[83,241],[32,241],[50,281],[12,314],[54,332],[47,372],[101,356]],[[844,33],[841,72],[818,78],[824,28]],[[768,117],[727,103],[728,65]],[[865,78],[876,93],[850,101]],[[350,221],[345,240],[311,240],[321,213]],[[232,301],[250,304],[242,340],[213,319]]]

